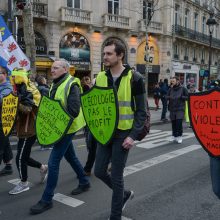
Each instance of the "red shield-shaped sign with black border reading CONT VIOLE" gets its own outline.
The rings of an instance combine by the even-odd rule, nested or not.
[[[220,156],[220,90],[193,93],[189,97],[189,116],[202,147]]]

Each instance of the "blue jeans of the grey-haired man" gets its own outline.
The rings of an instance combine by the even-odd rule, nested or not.
[[[72,143],[74,134],[65,135],[58,143],[56,143],[51,151],[48,162],[48,179],[47,185],[41,198],[44,202],[51,202],[54,190],[57,185],[60,161],[65,157],[67,162],[76,172],[79,179],[79,185],[86,185],[89,183],[89,178],[85,176],[83,167],[76,157],[75,150]]]

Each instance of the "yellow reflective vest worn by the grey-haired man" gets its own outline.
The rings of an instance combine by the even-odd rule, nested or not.
[[[80,90],[82,91],[80,80],[78,80],[78,78],[76,77],[72,77],[71,75],[63,83],[61,83],[60,86],[57,88],[54,100],[60,100],[64,109],[67,109],[67,97],[70,92],[70,87],[74,83],[78,84],[80,87]],[[52,87],[53,87],[53,84],[51,86],[51,89]],[[81,128],[83,128],[85,125],[86,123],[85,123],[84,116],[82,113],[82,108],[80,107],[79,115],[76,118],[74,118],[73,123],[71,124],[67,134],[75,133]]]

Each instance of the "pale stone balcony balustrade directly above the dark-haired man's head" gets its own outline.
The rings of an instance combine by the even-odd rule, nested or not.
[[[121,15],[104,14],[103,25],[111,28],[131,29],[130,18]]]

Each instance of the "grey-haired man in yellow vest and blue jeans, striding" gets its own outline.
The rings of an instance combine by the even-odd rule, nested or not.
[[[73,195],[80,194],[90,188],[88,177],[76,157],[72,139],[74,134],[85,126],[85,121],[80,107],[80,84],[79,80],[69,73],[69,64],[65,60],[57,60],[51,67],[53,83],[50,88],[49,97],[60,100],[62,106],[73,117],[73,123],[67,134],[54,144],[48,162],[47,185],[41,200],[31,207],[31,214],[40,214],[52,208],[52,198],[58,181],[59,165],[63,157],[68,161],[79,179],[79,185],[72,191]]]

